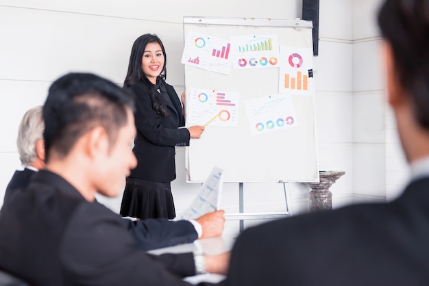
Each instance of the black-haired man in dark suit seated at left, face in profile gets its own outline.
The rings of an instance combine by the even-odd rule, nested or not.
[[[97,75],[52,83],[43,106],[46,166],[1,209],[1,269],[55,286],[188,285],[183,276],[226,272],[228,253],[147,254],[123,218],[95,200],[117,196],[136,166],[133,108],[130,94]]]

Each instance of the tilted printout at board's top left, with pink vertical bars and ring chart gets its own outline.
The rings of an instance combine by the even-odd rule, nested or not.
[[[189,31],[182,53],[182,64],[229,75],[231,44],[228,40]]]

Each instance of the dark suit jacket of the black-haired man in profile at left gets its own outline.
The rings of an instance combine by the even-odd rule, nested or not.
[[[149,255],[123,218],[40,170],[0,214],[0,268],[30,285],[189,285],[192,253]]]

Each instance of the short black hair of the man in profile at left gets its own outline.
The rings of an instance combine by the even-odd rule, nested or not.
[[[127,124],[132,96],[108,79],[91,73],[69,73],[54,81],[43,106],[45,161],[55,151],[65,157],[77,140],[94,127],[106,130],[111,145]]]

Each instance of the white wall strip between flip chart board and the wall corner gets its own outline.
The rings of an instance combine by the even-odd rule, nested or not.
[[[345,171],[330,187],[332,207],[352,203],[352,27],[351,1],[320,1],[319,56],[315,57],[319,166]]]

